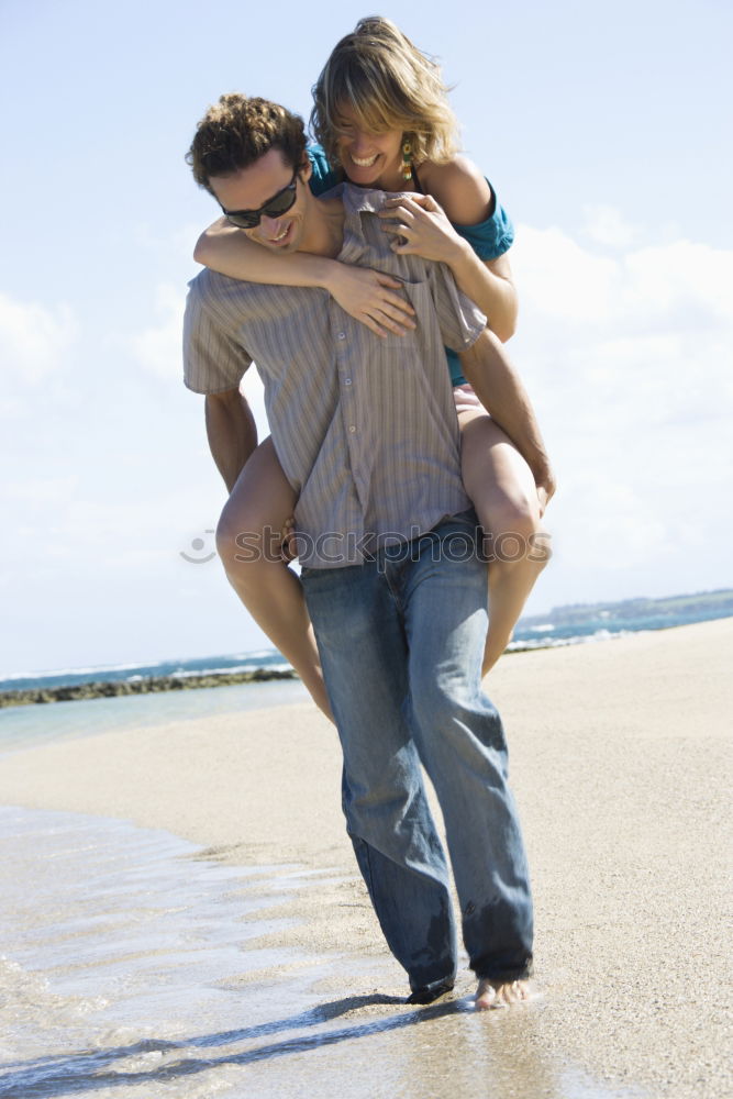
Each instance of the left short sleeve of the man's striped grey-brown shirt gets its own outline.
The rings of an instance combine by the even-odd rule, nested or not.
[[[252,357],[203,301],[196,280],[189,285],[184,315],[184,384],[195,393],[238,389]]]

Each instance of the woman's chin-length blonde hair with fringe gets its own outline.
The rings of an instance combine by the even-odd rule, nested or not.
[[[368,133],[400,130],[417,164],[445,164],[459,148],[447,92],[435,60],[389,19],[369,15],[335,46],[313,86],[311,129],[337,165],[340,111],[346,107]]]

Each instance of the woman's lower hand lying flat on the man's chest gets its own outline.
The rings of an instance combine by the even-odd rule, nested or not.
[[[396,291],[398,279],[368,267],[336,264],[334,274],[324,282],[334,301],[378,336],[393,332],[398,336],[414,329],[414,309]]]

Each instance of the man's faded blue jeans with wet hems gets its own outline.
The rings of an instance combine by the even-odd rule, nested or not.
[[[445,821],[471,968],[504,981],[532,965],[507,744],[480,689],[487,569],[475,518],[454,517],[364,565],[302,574],[344,754],[347,831],[387,943],[418,993],[456,974],[448,867],[421,763]]]

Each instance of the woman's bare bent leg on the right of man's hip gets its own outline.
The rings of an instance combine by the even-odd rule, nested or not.
[[[490,535],[486,675],[511,641],[534,581],[549,560],[549,535],[530,467],[509,436],[484,411],[462,412],[458,422],[464,486]]]

